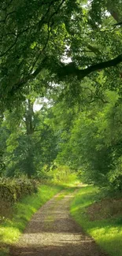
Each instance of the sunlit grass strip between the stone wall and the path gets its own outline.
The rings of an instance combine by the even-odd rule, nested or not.
[[[32,215],[61,189],[61,185],[41,185],[37,194],[28,195],[14,204],[13,217],[0,223],[0,256],[9,253],[9,244],[17,242]]]

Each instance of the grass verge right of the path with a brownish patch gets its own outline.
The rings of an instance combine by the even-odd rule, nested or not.
[[[79,189],[71,205],[72,217],[109,255],[121,256],[121,199],[109,198],[96,202],[100,196],[97,187]],[[116,210],[116,207],[120,207],[120,210]]]

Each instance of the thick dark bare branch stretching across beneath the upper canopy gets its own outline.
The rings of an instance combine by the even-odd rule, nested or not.
[[[23,87],[24,84],[28,83],[28,81],[35,79],[35,77],[38,76],[43,69],[50,70],[49,62],[50,61],[48,57],[45,57],[43,61],[40,63],[40,65],[37,67],[37,69],[35,69],[35,72],[24,77],[23,79],[18,81],[18,83],[14,84],[11,91],[17,91],[17,89]],[[65,77],[71,76],[77,76],[78,80],[83,80],[83,78],[91,74],[91,72],[114,67],[118,65],[120,62],[122,62],[122,54],[118,55],[116,58],[113,58],[110,61],[104,61],[95,65],[91,65],[87,69],[78,69],[73,62],[69,63],[68,65],[65,65],[61,62],[61,64],[58,65],[57,69],[52,70],[51,68],[51,72],[55,73],[58,76],[59,80],[64,80]]]

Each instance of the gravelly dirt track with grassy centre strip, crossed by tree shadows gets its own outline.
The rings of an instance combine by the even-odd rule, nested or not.
[[[31,219],[13,256],[105,256],[69,215],[72,195],[55,196]]]

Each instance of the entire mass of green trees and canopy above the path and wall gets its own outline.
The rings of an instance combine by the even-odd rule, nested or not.
[[[116,0],[0,2],[1,177],[122,189],[121,24]]]

